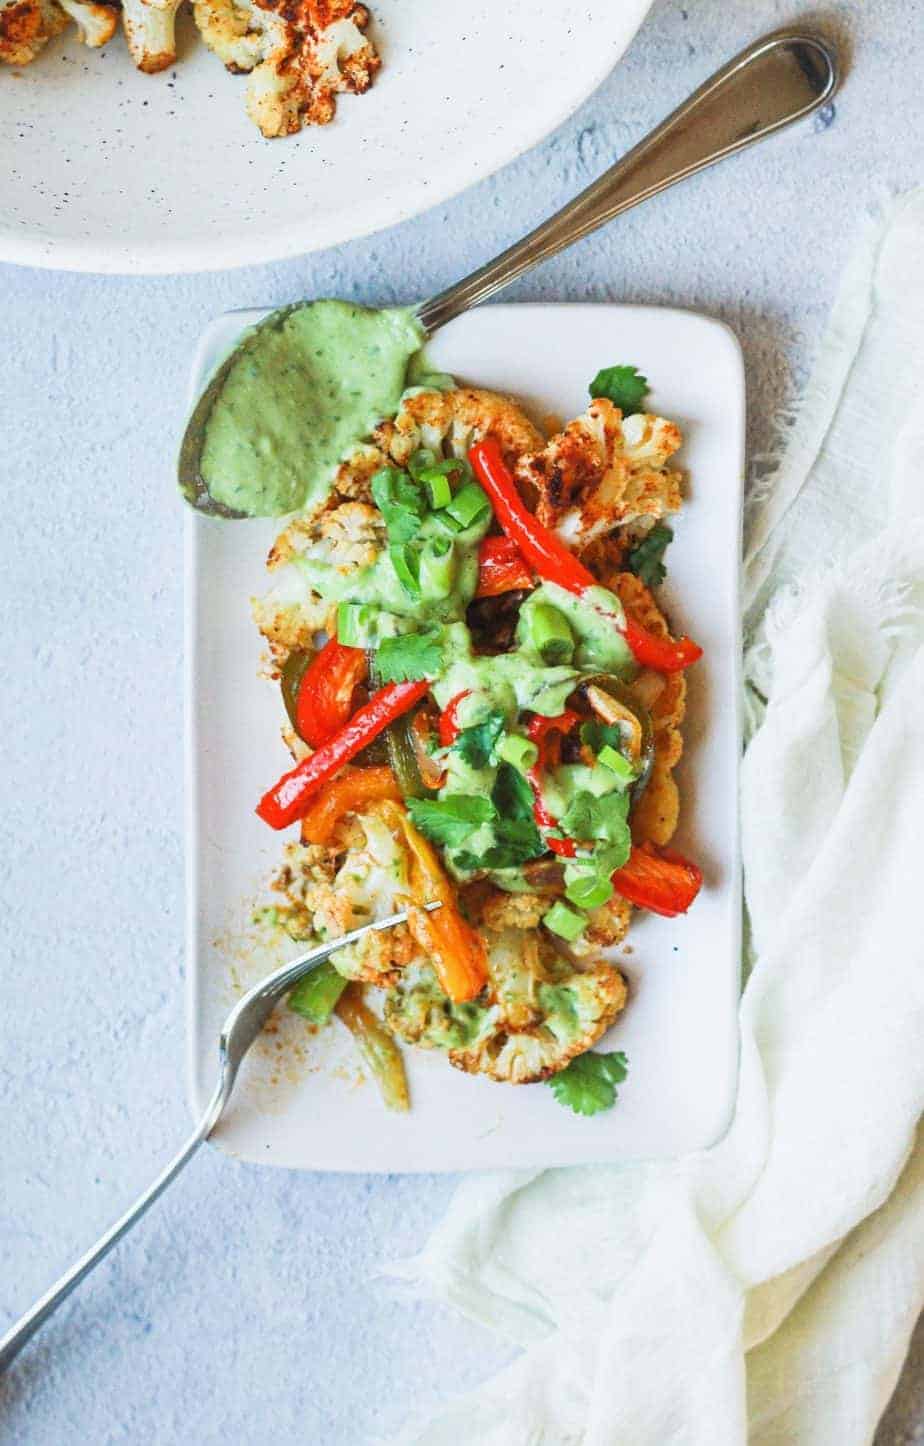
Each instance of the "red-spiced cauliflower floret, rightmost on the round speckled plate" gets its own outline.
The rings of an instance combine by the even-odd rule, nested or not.
[[[195,0],[195,23],[230,71],[249,71],[246,108],[268,136],[334,119],[341,91],[363,94],[380,59],[354,0]]]

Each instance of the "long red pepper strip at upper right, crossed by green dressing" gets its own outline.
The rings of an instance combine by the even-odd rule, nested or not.
[[[574,557],[561,538],[544,528],[526,510],[493,437],[476,442],[469,451],[469,461],[492,500],[497,522],[539,577],[557,583],[576,597],[581,597],[589,587],[599,586],[593,573]],[[645,668],[680,672],[703,656],[703,649],[693,639],[658,638],[629,617],[625,619],[622,630],[636,662]]]

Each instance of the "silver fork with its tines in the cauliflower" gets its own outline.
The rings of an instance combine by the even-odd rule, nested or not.
[[[441,908],[441,904],[425,904],[424,908],[435,910]],[[185,1145],[175,1155],[169,1165],[161,1171],[158,1178],[145,1190],[142,1196],[130,1206],[124,1215],[121,1215],[114,1225],[110,1225],[106,1235],[100,1236],[97,1244],[87,1251],[85,1255],[71,1265],[69,1271],[55,1281],[51,1290],[46,1290],[43,1296],[39,1296],[35,1306],[26,1312],[25,1316],[16,1322],[14,1326],[0,1336],[0,1371],[3,1371],[22,1351],[29,1338],[35,1335],[42,1322],[45,1322],[54,1310],[58,1309],[62,1300],[71,1294],[75,1285],[80,1285],[84,1275],[88,1275],[94,1265],[98,1265],[104,1255],[108,1255],[113,1245],[116,1245],[127,1231],[140,1220],[142,1215],[149,1206],[155,1203],[159,1194],[162,1194],[168,1184],[179,1174],[182,1167],[192,1158],[198,1147],[208,1139],[215,1125],[224,1113],[224,1108],[231,1098],[231,1090],[234,1089],[234,1080],[237,1079],[237,1071],[241,1061],[256,1040],[257,1034],[266,1024],[269,1015],[275,1009],[279,999],[292,989],[305,975],[322,964],[330,954],[335,954],[338,949],[344,944],[353,944],[357,938],[363,938],[364,934],[379,933],[383,928],[393,928],[395,924],[403,924],[408,918],[406,911],[402,910],[401,914],[389,914],[388,918],[380,918],[373,924],[363,924],[362,928],[354,928],[348,934],[343,934],[340,938],[334,938],[327,944],[318,944],[317,949],[309,949],[308,953],[299,954],[298,959],[291,959],[288,964],[282,964],[272,975],[268,975],[262,983],[254,985],[247,993],[240,999],[227,1019],[218,1037],[218,1083],[215,1086],[215,1093],[208,1102],[205,1113],[200,1119],[198,1125],[187,1139]]]

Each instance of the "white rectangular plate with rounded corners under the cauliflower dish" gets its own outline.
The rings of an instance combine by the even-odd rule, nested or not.
[[[236,312],[210,327],[192,395],[260,315]],[[677,847],[700,862],[706,885],[684,918],[636,912],[617,951],[630,1001],[602,1048],[628,1053],[629,1077],[607,1113],[578,1118],[545,1086],[493,1084],[419,1050],[405,1051],[411,1113],[389,1113],[338,1022],[312,1035],[281,1009],[215,1138],[240,1158],[307,1170],[562,1165],[704,1148],[727,1126],[737,1079],[740,348],[724,325],[684,311],[500,305],[451,322],[428,354],[460,380],[521,398],[536,418],[576,416],[599,367],[630,363],[649,377],[649,408],[683,428],[687,500],[662,594],[674,628],[704,648],[688,675]],[[257,677],[262,639],[249,606],[268,586],[263,562],[278,529],[273,521],[187,519],[187,957],[197,1111],[214,1086],[218,1027],[236,993],[282,962],[281,946],[256,943],[250,925],[282,850],[253,808],[291,766],[279,690]]]

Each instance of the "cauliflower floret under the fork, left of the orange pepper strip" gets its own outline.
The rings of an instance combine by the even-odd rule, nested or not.
[[[408,891],[408,859],[373,807],[356,816],[346,850],[288,844],[273,888],[288,902],[281,912],[295,938],[337,938],[399,908],[398,895]],[[331,963],[346,979],[388,985],[414,954],[411,934],[399,924],[338,950]]]

